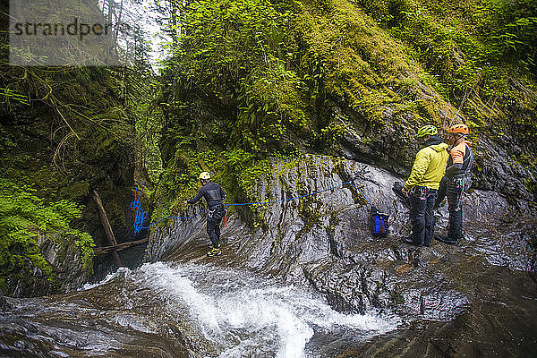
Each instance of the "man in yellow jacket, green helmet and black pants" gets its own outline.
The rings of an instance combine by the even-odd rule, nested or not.
[[[447,144],[442,142],[438,133],[434,125],[425,125],[417,134],[422,149],[416,154],[412,172],[402,190],[410,202],[412,234],[403,238],[403,243],[429,246],[432,240],[434,202],[449,157]]]

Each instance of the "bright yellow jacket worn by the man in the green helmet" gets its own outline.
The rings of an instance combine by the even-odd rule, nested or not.
[[[439,189],[440,180],[446,173],[447,144],[442,143],[438,137],[431,137],[433,144],[421,149],[414,160],[412,173],[405,182],[405,190],[410,191],[414,186],[426,186],[430,189]],[[440,142],[440,143],[439,143]]]

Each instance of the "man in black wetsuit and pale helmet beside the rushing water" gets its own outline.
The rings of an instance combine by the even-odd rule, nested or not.
[[[207,202],[207,234],[209,234],[210,245],[207,256],[221,255],[220,251],[220,222],[226,214],[222,200],[226,198],[226,192],[217,183],[209,182],[210,175],[207,172],[200,174],[200,183],[202,185],[198,195],[191,200],[184,201],[184,205],[195,204],[201,197]]]

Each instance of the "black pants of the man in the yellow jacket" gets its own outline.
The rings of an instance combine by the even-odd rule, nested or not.
[[[434,233],[434,201],[437,191],[426,186],[414,186],[408,193],[410,202],[410,221],[412,234],[410,239],[417,244],[430,245]]]

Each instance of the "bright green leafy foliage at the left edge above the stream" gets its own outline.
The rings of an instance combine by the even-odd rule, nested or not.
[[[87,233],[72,229],[69,222],[81,216],[81,208],[68,200],[46,204],[37,190],[0,178],[0,279],[24,269],[25,258],[46,274],[54,275],[41,254],[38,236],[57,241],[65,249],[72,245],[81,252],[84,267],[91,268],[95,244]],[[5,289],[6,287],[1,287]]]

